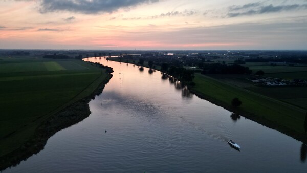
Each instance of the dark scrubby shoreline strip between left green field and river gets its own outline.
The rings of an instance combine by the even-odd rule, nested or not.
[[[111,68],[108,68],[108,72],[110,70],[112,71]],[[95,96],[101,94],[105,85],[112,77],[113,75],[108,73],[107,77],[100,82],[98,87],[89,96],[68,105],[44,120],[35,129],[34,135],[26,143],[13,152],[0,157],[0,172],[12,166],[17,166],[21,161],[26,161],[32,155],[39,153],[47,144],[48,139],[54,134],[89,117],[91,111],[88,103]]]

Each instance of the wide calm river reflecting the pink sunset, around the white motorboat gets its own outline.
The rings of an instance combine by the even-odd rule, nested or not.
[[[307,147],[295,139],[201,100],[158,71],[90,60],[115,71],[90,102],[90,117],[4,172],[307,171]]]

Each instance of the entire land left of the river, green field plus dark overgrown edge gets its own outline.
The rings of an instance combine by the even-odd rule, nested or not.
[[[111,78],[106,69],[81,60],[6,60],[2,67],[0,170],[38,152],[54,133],[89,116],[87,102]]]

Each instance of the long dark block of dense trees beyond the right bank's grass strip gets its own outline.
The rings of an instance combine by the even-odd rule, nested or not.
[[[244,74],[252,73],[248,67],[243,67],[238,64],[227,66],[221,63],[204,64],[202,74]]]

